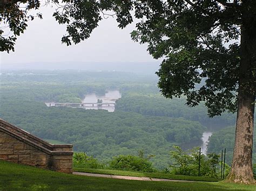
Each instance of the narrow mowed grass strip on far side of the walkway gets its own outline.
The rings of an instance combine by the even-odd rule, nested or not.
[[[185,175],[174,175],[174,174],[164,174],[164,173],[142,173],[142,172],[131,172],[131,171],[116,171],[111,169],[73,168],[73,171],[97,173],[97,174],[121,175],[121,176],[149,177],[149,178],[170,179],[170,180],[192,180],[192,181],[206,181],[206,182],[220,181],[220,179],[204,177],[204,176],[185,176]]]

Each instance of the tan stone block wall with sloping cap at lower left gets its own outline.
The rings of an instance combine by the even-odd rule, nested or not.
[[[52,145],[0,119],[0,159],[72,173],[72,145]]]

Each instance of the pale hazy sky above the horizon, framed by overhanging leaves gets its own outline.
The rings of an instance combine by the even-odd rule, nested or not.
[[[146,45],[134,43],[130,32],[134,24],[121,30],[113,18],[103,19],[91,37],[78,45],[67,47],[60,39],[65,26],[52,17],[53,8],[43,7],[43,19],[29,22],[24,34],[18,37],[15,52],[1,55],[1,65],[28,62],[154,62]]]

